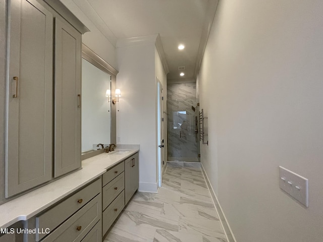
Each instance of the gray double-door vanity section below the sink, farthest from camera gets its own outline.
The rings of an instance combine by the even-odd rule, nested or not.
[[[129,202],[139,187],[138,153],[125,160],[125,204]]]

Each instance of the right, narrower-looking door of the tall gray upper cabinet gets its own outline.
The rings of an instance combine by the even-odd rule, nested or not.
[[[55,177],[81,167],[81,38],[55,19]]]

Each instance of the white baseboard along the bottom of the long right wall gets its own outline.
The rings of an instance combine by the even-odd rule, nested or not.
[[[226,217],[226,215],[224,214],[224,212],[223,212],[223,210],[222,210],[222,207],[221,207],[221,205],[220,205],[220,203],[219,203],[219,200],[218,200],[218,198],[217,198],[217,195],[216,195],[216,193],[214,192],[214,190],[213,190],[213,188],[212,188],[212,186],[211,186],[211,184],[210,184],[210,180],[208,179],[208,177],[207,177],[207,174],[206,174],[206,172],[205,172],[205,169],[204,169],[204,166],[203,166],[203,164],[201,163],[201,167],[202,167],[202,172],[203,172],[203,175],[204,175],[204,178],[205,178],[205,180],[206,180],[206,184],[207,184],[207,187],[208,187],[208,191],[210,192],[210,194],[211,194],[211,198],[212,198],[212,201],[213,201],[213,204],[214,204],[214,207],[216,208],[216,210],[217,210],[217,213],[219,214],[219,220],[220,220],[220,222],[221,222],[221,225],[222,225],[222,228],[223,228],[223,230],[224,230],[224,232],[225,232],[225,234],[226,234],[226,237],[227,237],[227,241],[229,241],[229,242],[237,242],[237,240],[236,240],[236,238],[234,237],[234,235],[233,235],[233,232],[232,232],[232,229],[231,229],[231,227],[230,227],[230,224],[229,224],[229,222],[228,222],[228,220],[227,220],[227,217]],[[220,210],[220,211],[219,211]],[[222,215],[222,216],[221,216]],[[225,220],[225,221],[223,221],[223,219]],[[224,226],[224,223],[226,223],[226,225],[227,226]],[[228,227],[229,228],[229,231],[230,231],[230,238],[231,239],[229,239],[229,237],[228,237],[228,231],[226,231],[226,229],[225,229],[225,227]],[[233,239],[233,241],[232,241],[232,239]]]

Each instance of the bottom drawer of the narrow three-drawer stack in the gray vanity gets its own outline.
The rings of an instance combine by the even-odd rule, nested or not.
[[[124,207],[125,191],[122,191],[122,193],[119,194],[119,196],[102,213],[102,235],[104,235],[110,228]]]

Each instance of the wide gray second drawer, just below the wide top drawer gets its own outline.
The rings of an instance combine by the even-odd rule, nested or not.
[[[101,218],[101,194],[87,203],[61,226],[48,234],[42,242],[79,242]]]

